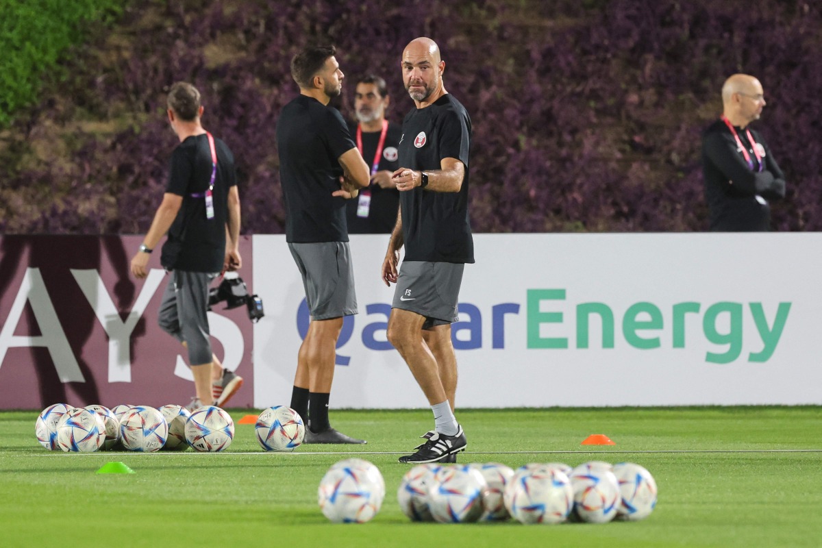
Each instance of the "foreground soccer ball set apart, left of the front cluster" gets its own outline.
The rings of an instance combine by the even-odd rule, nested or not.
[[[366,523],[380,511],[386,482],[379,469],[362,458],[349,458],[328,469],[317,489],[317,502],[334,523]]]

